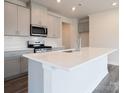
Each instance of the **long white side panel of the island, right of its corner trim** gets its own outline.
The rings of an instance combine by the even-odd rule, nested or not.
[[[92,93],[107,73],[107,56],[72,71],[52,70],[52,92],[49,93]]]

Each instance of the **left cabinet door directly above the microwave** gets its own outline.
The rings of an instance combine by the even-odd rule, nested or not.
[[[41,26],[41,9],[40,6],[38,6],[35,3],[32,3],[31,5],[31,23],[34,25]]]

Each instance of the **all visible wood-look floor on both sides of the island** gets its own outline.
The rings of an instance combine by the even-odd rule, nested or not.
[[[93,93],[119,93],[119,67],[108,65],[109,74]],[[28,76],[5,81],[4,93],[28,93]]]

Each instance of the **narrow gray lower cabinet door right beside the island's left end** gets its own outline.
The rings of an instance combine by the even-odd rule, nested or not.
[[[28,59],[21,57],[21,73],[28,72]]]

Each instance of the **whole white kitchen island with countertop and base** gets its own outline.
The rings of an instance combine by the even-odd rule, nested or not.
[[[107,75],[108,48],[24,54],[29,59],[28,93],[92,93]]]

